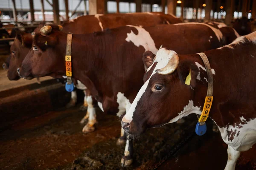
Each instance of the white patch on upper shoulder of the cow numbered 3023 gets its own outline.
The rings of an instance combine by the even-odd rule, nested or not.
[[[145,51],[152,51],[153,54],[157,53],[157,48],[154,40],[152,39],[148,31],[139,26],[128,26],[136,28],[138,30],[138,34],[134,34],[133,31],[131,31],[131,33],[127,33],[127,38],[125,38],[125,41],[133,42],[134,45],[136,45],[137,47],[141,45],[145,48]]]

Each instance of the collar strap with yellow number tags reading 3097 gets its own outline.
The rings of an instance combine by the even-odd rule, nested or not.
[[[198,55],[201,57],[201,59],[204,62],[204,66],[206,68],[206,72],[207,72],[207,76],[208,76],[207,96],[205,97],[203,111],[201,113],[200,118],[198,119],[199,123],[203,123],[207,120],[207,118],[209,116],[210,109],[212,107],[213,77],[212,77],[212,69],[211,69],[211,66],[210,66],[207,56],[204,53],[198,53]]]

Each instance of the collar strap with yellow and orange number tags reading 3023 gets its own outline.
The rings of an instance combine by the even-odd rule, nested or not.
[[[72,84],[72,63],[71,63],[71,45],[72,45],[72,35],[73,33],[67,34],[67,47],[66,47],[66,75],[67,75],[67,84]]]

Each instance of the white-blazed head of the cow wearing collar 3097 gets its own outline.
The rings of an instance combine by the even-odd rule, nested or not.
[[[183,112],[193,99],[198,74],[195,62],[180,60],[175,51],[166,48],[160,48],[156,56],[146,51],[143,58],[145,66],[149,66],[144,74],[144,85],[122,119],[122,127],[131,134],[140,134],[146,128],[187,116]],[[185,83],[188,76],[190,85]]]

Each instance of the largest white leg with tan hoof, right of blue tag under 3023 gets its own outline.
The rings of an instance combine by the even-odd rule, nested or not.
[[[89,133],[95,130],[94,124],[97,122],[96,120],[96,109],[93,107],[93,96],[87,96],[87,113],[89,113],[88,123],[84,126],[83,132]]]

